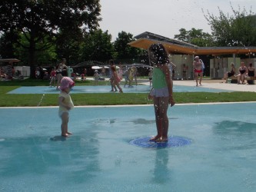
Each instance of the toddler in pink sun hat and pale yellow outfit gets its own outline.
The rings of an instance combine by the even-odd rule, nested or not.
[[[70,90],[75,85],[75,82],[71,80],[71,78],[63,77],[60,85],[60,94],[58,95],[58,115],[60,118],[62,118],[62,137],[68,137],[69,134],[72,134],[71,132],[68,132],[68,120],[69,120],[69,114],[68,111],[70,111],[72,108],[74,108],[73,101],[70,97]]]

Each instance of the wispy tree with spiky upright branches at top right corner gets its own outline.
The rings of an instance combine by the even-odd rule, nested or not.
[[[247,12],[245,8],[234,10],[231,5],[233,15],[225,15],[219,10],[219,16],[214,16],[209,12],[204,14],[209,25],[211,25],[212,35],[218,46],[252,46],[256,44],[256,16],[251,10]]]

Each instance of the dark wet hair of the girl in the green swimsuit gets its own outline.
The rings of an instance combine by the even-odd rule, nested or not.
[[[161,45],[161,43],[152,44],[148,48],[148,57],[150,65],[165,65],[169,63],[167,52],[165,51],[164,45]]]

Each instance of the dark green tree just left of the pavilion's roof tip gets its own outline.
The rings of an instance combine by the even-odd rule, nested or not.
[[[141,55],[141,49],[134,48],[128,45],[129,42],[135,41],[131,33],[121,31],[118,33],[118,38],[114,42],[115,51],[117,54],[117,59],[131,59],[133,61]]]

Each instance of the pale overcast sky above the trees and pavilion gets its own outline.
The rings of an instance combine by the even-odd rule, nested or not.
[[[148,31],[174,38],[181,28],[196,28],[211,34],[204,13],[218,16],[220,8],[225,15],[232,15],[231,5],[237,11],[240,7],[256,12],[255,0],[100,0],[100,4],[100,28],[108,30],[112,41],[121,31],[133,36]]]

